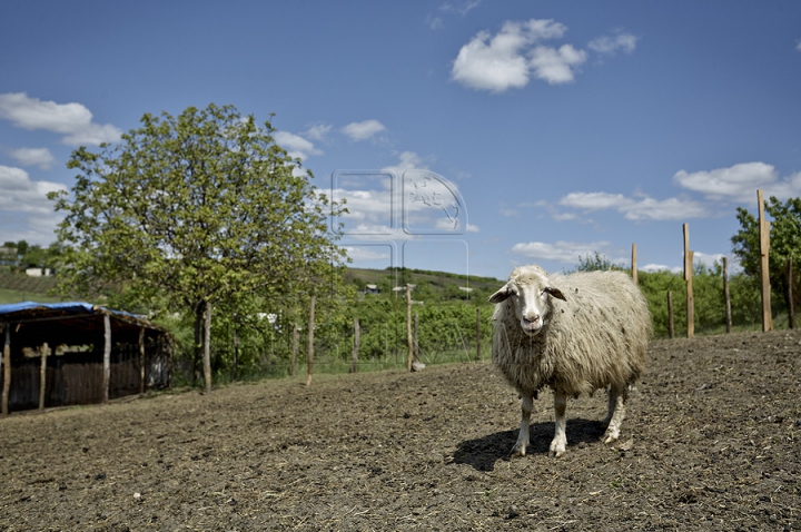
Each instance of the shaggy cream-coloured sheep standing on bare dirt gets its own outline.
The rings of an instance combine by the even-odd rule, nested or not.
[[[565,453],[567,396],[609,386],[604,443],[620,437],[629,388],[645,365],[651,315],[640,289],[622,272],[548,274],[537,265],[515,268],[490,296],[495,366],[522,398],[520,435],[512,449],[524,456],[533,401],[554,393],[551,456]]]

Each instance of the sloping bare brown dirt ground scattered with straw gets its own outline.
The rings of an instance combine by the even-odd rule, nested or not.
[[[520,402],[488,363],[235,385],[0,420],[0,531],[801,530],[801,334],[654,342],[605,394]]]

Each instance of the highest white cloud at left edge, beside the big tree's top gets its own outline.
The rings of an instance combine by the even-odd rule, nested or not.
[[[24,92],[0,95],[0,118],[19,128],[65,135],[61,141],[68,146],[112,142],[122,134],[110,124],[93,124],[92,114],[81,104],[41,101]]]

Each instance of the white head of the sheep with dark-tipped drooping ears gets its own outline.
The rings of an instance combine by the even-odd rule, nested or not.
[[[508,283],[490,296],[490,303],[502,303],[512,298],[521,328],[528,336],[536,336],[547,323],[551,314],[550,297],[565,301],[562,292],[538,267],[517,268],[512,272]]]

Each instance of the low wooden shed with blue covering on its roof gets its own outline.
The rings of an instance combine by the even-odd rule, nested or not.
[[[141,316],[82,302],[0,305],[2,414],[107,402],[170,385],[172,338]]]

